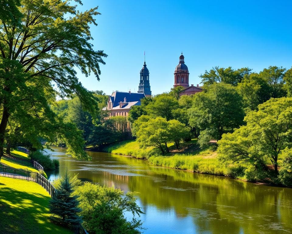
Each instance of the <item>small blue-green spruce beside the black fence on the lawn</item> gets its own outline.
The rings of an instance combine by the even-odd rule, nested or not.
[[[55,197],[50,200],[50,213],[53,221],[76,230],[82,222],[81,217],[78,215],[81,209],[78,208],[78,196],[72,193],[72,184],[66,172],[64,178],[60,181],[60,186],[56,188]]]

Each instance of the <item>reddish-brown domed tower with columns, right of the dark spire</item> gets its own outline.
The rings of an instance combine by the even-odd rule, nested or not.
[[[185,64],[184,59],[185,57],[181,54],[179,56],[179,64],[174,70],[174,87],[189,87],[189,69]]]

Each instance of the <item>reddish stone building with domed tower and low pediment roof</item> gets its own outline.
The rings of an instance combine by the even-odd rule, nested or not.
[[[189,86],[189,69],[185,64],[185,57],[181,54],[179,56],[179,64],[174,70],[174,87],[182,86],[185,89],[179,94],[182,95],[191,95],[203,91],[202,87],[198,84],[194,86],[191,84]]]

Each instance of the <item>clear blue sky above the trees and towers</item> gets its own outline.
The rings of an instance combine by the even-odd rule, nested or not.
[[[92,44],[108,55],[100,81],[78,73],[89,90],[137,92],[144,51],[152,94],[172,88],[181,52],[195,85],[213,66],[292,66],[292,1],[82,2],[99,6]]]

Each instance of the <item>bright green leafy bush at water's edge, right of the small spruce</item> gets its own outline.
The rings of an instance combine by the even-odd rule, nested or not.
[[[140,216],[143,212],[136,204],[136,193],[123,193],[113,187],[102,187],[92,183],[84,183],[76,188],[74,194],[78,195],[80,215],[83,217],[84,227],[96,234],[139,234],[141,220],[135,218],[127,221],[123,213],[129,211]]]

